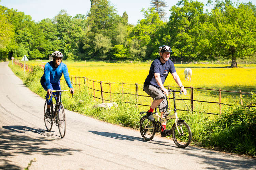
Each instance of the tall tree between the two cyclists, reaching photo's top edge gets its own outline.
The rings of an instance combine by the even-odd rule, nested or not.
[[[110,59],[112,48],[118,44],[118,39],[122,39],[122,36],[116,38],[120,35],[116,30],[123,21],[108,0],[91,0],[90,12],[86,19],[88,31],[83,37],[84,53],[88,54],[89,58]]]

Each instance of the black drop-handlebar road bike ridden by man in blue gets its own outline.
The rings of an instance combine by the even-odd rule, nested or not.
[[[51,115],[46,114],[47,109],[47,97],[45,96],[45,103],[44,103],[44,124],[45,128],[48,132],[52,130],[53,122],[55,121],[56,126],[58,126],[60,137],[63,138],[66,134],[66,116],[64,106],[61,103],[61,93],[63,91],[69,90],[52,90],[52,92],[56,92],[56,95],[52,95],[52,102],[51,102]],[[73,94],[70,95],[70,98],[73,97]],[[49,96],[48,100],[51,98]],[[56,103],[53,105],[53,98],[56,98]]]

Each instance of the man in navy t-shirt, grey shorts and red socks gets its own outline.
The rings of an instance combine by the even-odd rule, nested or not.
[[[163,45],[159,47],[159,55],[160,57],[154,60],[150,66],[150,71],[147,75],[147,78],[144,82],[143,90],[154,98],[154,101],[151,104],[150,110],[147,111],[147,118],[149,120],[154,120],[152,112],[155,107],[160,106],[161,118],[164,118],[164,113],[168,109],[168,90],[163,86],[169,72],[172,74],[173,79],[177,83],[177,85],[181,88],[184,95],[187,95],[187,90],[182,85],[179,75],[176,73],[174,64],[171,60],[169,60],[170,54],[172,50],[169,46]],[[163,128],[166,129],[166,122],[162,124]],[[166,134],[163,132],[161,136],[165,137],[170,135],[171,131],[166,130]]]

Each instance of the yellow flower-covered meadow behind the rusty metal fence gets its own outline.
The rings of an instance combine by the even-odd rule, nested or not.
[[[86,77],[90,80],[103,81],[105,83],[131,83],[133,85],[123,85],[123,91],[127,93],[135,93],[135,83],[143,84],[148,74],[151,63],[106,63],[106,62],[67,62],[63,61],[68,66],[70,76]],[[26,62],[27,63],[27,62]],[[45,64],[41,62],[29,61],[30,65]],[[185,87],[210,88],[256,92],[256,65],[238,65],[238,68],[228,68],[229,65],[216,64],[174,64],[178,75],[180,76]],[[192,69],[192,81],[184,80],[184,69]],[[74,79],[73,79],[74,83]],[[80,84],[83,84],[83,79],[80,79]],[[92,87],[92,82],[89,82],[89,87]],[[165,86],[177,86],[171,74],[164,84]],[[78,87],[77,87],[78,88]],[[95,88],[100,90],[99,83],[95,83]],[[190,89],[188,95],[182,96],[184,99],[190,99]],[[103,91],[109,92],[109,84],[103,84]],[[111,92],[122,91],[121,85],[111,85]],[[90,90],[93,95],[93,91]],[[96,96],[101,97],[100,92],[95,91]],[[139,86],[139,95],[146,95],[143,92],[143,86]],[[110,100],[109,94],[104,94],[104,99]],[[194,100],[214,101],[219,102],[218,91],[205,91],[194,89]],[[113,95],[111,96],[113,98]],[[246,97],[246,95],[243,97]],[[222,92],[222,103],[230,103],[240,101],[239,94]],[[150,98],[138,98],[143,104],[150,104]],[[179,101],[178,101],[179,103]],[[190,105],[190,101],[186,101]],[[211,111],[209,108],[211,107]],[[212,103],[194,102],[194,108],[203,109],[205,112],[219,112],[219,105]],[[222,105],[224,108],[224,105]]]

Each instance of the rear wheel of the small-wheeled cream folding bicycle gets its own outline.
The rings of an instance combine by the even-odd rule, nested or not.
[[[151,128],[151,129],[145,129]],[[148,120],[146,116],[143,116],[140,121],[140,134],[146,141],[150,141],[154,138],[156,133],[153,121]]]

